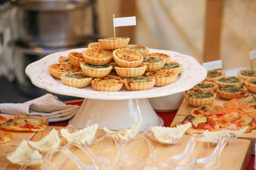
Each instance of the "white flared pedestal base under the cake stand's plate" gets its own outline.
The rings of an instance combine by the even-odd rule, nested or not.
[[[80,110],[70,119],[69,125],[85,128],[97,123],[99,128],[122,129],[142,121],[145,125],[164,125],[147,98],[126,100],[98,100],[85,98]],[[140,129],[142,130],[142,129]]]

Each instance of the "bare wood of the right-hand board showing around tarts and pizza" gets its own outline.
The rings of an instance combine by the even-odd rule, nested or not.
[[[247,92],[246,95],[250,95],[252,93]],[[255,95],[255,94],[252,94]],[[223,98],[220,98],[220,96],[217,95],[215,101],[213,102],[213,106],[223,106],[223,103],[227,103],[228,100],[225,100]],[[178,111],[176,113],[176,116],[174,117],[174,120],[172,121],[171,125],[174,123],[181,122],[183,118],[185,118],[187,115],[191,115],[191,111],[196,108],[188,104],[186,99],[184,98],[180,108],[178,108]],[[256,130],[252,130],[250,133],[244,133],[239,137],[240,139],[250,140],[252,142],[252,154],[255,154],[255,142],[256,142]]]

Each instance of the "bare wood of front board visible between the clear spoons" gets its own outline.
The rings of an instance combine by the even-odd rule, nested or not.
[[[43,132],[37,132],[35,135],[31,134],[31,141],[38,141],[41,140],[43,137],[48,135],[48,132],[50,132],[53,128],[55,130],[59,131],[60,135],[60,127],[48,127]],[[104,130],[97,130],[96,137],[102,137],[105,135]],[[26,134],[23,132],[20,132],[18,135],[19,139],[21,140],[22,137],[25,137]],[[154,156],[158,157],[159,159],[166,162],[166,160],[174,156],[176,154],[180,154],[185,149],[188,140],[182,142],[179,145],[161,145],[159,142],[156,142],[155,140],[152,140],[147,135],[144,135],[148,140],[151,141],[153,147],[154,147]],[[29,140],[30,137],[26,137],[26,140]],[[16,136],[14,136],[16,138]],[[251,156],[251,145],[250,140],[238,140],[240,142],[240,147],[242,150],[242,154],[240,155],[234,155],[230,154],[229,147],[225,147],[223,149],[223,152],[220,155],[221,164],[218,167],[218,169],[246,169],[247,165],[250,162],[250,156]],[[12,143],[9,145],[13,145]],[[0,151],[7,152],[6,145],[0,145]],[[13,145],[12,149],[9,149],[9,152],[13,152],[15,147],[17,145]],[[111,160],[114,162],[115,158],[117,157],[117,147],[114,145],[114,142],[111,138],[105,138],[102,140],[102,142],[97,142],[95,145],[90,146],[90,149],[99,157],[107,157],[112,158]],[[215,149],[215,145],[210,145],[210,150],[208,152],[202,152],[201,146],[196,145],[193,150],[193,157],[195,159],[206,157],[210,155],[213,152],[213,149]],[[85,164],[92,164],[90,162],[90,159],[80,150],[78,147],[72,147],[70,149],[73,154],[75,154],[82,162]],[[129,145],[126,147],[127,152],[130,154],[134,154],[137,157],[141,157],[143,159],[143,164],[138,169],[143,169],[144,166],[146,166],[147,162],[150,160],[151,157],[149,157],[149,147],[146,143],[146,140],[135,140],[133,142],[130,142]],[[8,160],[6,160],[5,157],[0,157],[1,159],[1,165],[0,169],[18,169],[18,166],[16,164],[10,164]],[[64,160],[64,161],[63,161]],[[54,154],[52,162],[54,164],[64,164],[62,169],[76,169],[75,165],[67,159],[62,159],[59,154]],[[3,165],[4,164],[4,165]],[[118,164],[117,164],[118,165]],[[33,167],[33,169],[41,169],[40,166]],[[114,169],[122,169],[120,166],[115,167]],[[191,167],[192,169],[192,167]]]

